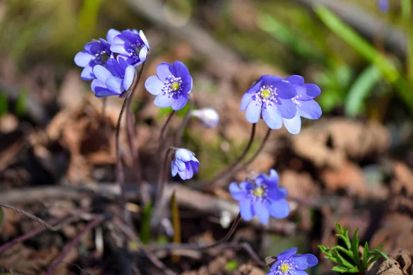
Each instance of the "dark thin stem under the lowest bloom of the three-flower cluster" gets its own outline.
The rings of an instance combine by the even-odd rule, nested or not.
[[[126,188],[125,188],[125,175],[123,174],[122,159],[120,159],[120,122],[122,121],[123,113],[125,112],[127,101],[129,97],[123,101],[122,108],[120,109],[118,124],[116,125],[116,181],[120,186],[119,207],[123,218],[127,220],[126,204]]]

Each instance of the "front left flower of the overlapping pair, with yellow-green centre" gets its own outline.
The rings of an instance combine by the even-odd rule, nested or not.
[[[240,109],[246,109],[248,122],[257,123],[262,118],[271,129],[280,129],[282,118],[294,118],[297,113],[291,101],[296,94],[293,85],[279,76],[261,76],[242,96]]]

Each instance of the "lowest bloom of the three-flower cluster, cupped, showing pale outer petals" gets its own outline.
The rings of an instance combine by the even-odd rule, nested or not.
[[[97,98],[122,96],[129,90],[135,78],[134,66],[127,65],[123,58],[109,58],[106,67],[96,65],[93,72],[96,79],[92,81],[92,91]]]

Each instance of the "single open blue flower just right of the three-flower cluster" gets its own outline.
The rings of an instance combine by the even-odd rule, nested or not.
[[[187,67],[180,61],[173,65],[160,63],[156,67],[156,76],[149,76],[145,88],[156,96],[153,103],[160,107],[172,107],[178,111],[188,102],[188,93],[192,89],[192,77]]]

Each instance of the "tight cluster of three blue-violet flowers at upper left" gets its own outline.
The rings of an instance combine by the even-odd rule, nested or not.
[[[134,82],[135,67],[146,60],[148,53],[149,43],[142,30],[111,29],[106,40],[87,43],[74,62],[84,68],[83,80],[93,80],[91,87],[96,97],[123,96]]]

